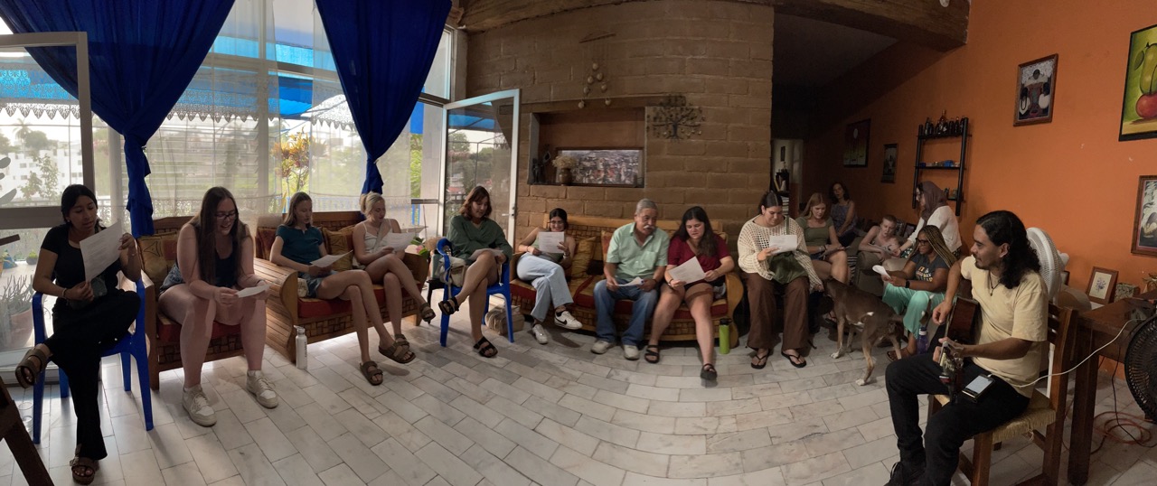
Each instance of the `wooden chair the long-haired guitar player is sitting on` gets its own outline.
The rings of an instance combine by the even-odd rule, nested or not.
[[[1053,347],[1053,358],[1048,373],[1059,374],[1071,366],[1075,343],[1073,324],[1074,310],[1063,307],[1048,305],[1048,343]],[[1017,435],[1032,433],[1032,441],[1045,451],[1045,461],[1040,474],[1033,476],[1020,485],[1045,484],[1056,485],[1060,481],[1062,440],[1064,436],[1066,398],[1068,396],[1068,375],[1048,378],[1048,395],[1033,390],[1029,407],[1019,417],[1004,422],[1000,427],[972,437],[972,457],[960,454],[960,472],[973,486],[988,485],[988,473],[992,469],[993,450],[1000,443]],[[928,397],[928,415],[931,417],[948,403],[946,395]],[[1044,432],[1039,429],[1044,428]]]

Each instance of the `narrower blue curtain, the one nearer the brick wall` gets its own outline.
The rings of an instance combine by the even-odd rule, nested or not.
[[[362,193],[382,192],[375,161],[398,138],[429,74],[450,0],[316,0],[341,89],[366,146]]]

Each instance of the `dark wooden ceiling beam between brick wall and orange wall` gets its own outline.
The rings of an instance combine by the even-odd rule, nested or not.
[[[968,0],[772,0],[775,13],[949,51],[968,41]]]

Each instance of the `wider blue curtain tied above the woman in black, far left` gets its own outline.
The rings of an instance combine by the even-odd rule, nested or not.
[[[153,234],[145,143],[189,86],[234,0],[5,0],[0,16],[17,34],[86,31],[93,112],[125,138],[133,235]],[[76,52],[30,49],[76,96]]]

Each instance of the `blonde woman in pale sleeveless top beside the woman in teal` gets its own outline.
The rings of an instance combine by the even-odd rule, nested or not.
[[[385,293],[385,307],[390,309],[390,322],[393,324],[393,339],[398,343],[410,343],[401,334],[401,290],[420,302],[418,315],[427,323],[434,321],[434,309],[422,299],[422,289],[414,281],[414,274],[401,262],[405,246],[413,235],[403,234],[398,220],[385,218],[385,199],[377,192],[361,196],[361,212],[366,221],[354,226],[354,266],[369,274],[370,281],[381,282]],[[391,235],[403,235],[405,243],[389,243]],[[410,236],[408,238],[405,236]]]

